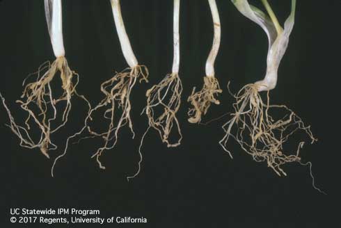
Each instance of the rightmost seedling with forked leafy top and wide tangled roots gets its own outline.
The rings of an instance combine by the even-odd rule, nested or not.
[[[291,13],[285,21],[284,28],[278,23],[267,0],[261,1],[269,16],[255,6],[251,6],[246,0],[232,1],[241,14],[260,25],[267,33],[269,50],[264,79],[244,86],[237,92],[237,95],[234,95],[235,113],[232,113],[232,118],[223,125],[225,136],[220,144],[230,154],[227,143],[230,137],[235,138],[241,148],[255,161],[265,161],[278,176],[286,176],[282,165],[292,162],[301,163],[300,149],[304,144],[300,142],[294,152],[288,153],[283,145],[290,139],[290,136],[296,131],[303,131],[308,134],[311,143],[317,139],[312,136],[310,127],[306,126],[290,108],[285,105],[269,104],[269,90],[276,87],[280,60],[285,54],[290,33],[294,27],[296,0],[292,0]],[[262,91],[267,92],[265,102],[260,95]],[[276,120],[270,115],[270,111],[282,111],[284,117]],[[237,131],[232,131],[234,125],[237,125]],[[230,156],[232,157],[231,154]],[[309,164],[311,168],[311,163],[301,164]]]

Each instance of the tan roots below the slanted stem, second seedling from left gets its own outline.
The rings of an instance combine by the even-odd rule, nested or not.
[[[88,113],[86,128],[91,135],[90,138],[100,137],[104,140],[104,145],[97,149],[97,152],[92,156],[92,158],[96,157],[97,163],[102,169],[105,169],[105,167],[102,165],[99,158],[104,150],[115,147],[120,128],[128,124],[129,129],[132,131],[133,138],[135,136],[132,119],[130,117],[130,111],[132,109],[130,95],[136,81],[139,81],[140,83],[141,81],[148,82],[147,67],[137,65],[136,67],[127,68],[122,72],[116,73],[111,79],[104,81],[101,85],[101,91],[104,93],[105,97]],[[97,133],[90,128],[88,120],[93,120],[91,117],[92,113],[103,107],[106,108],[104,111],[104,118],[109,120],[110,123],[106,131]],[[116,109],[121,110],[120,115],[118,115],[118,110]],[[117,116],[119,117],[116,124],[115,119]]]

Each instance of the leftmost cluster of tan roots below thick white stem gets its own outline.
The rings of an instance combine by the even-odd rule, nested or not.
[[[58,72],[61,75],[63,92],[60,97],[54,97],[51,90],[51,82]],[[35,76],[35,81],[26,83],[27,79],[32,76]],[[72,81],[73,79],[75,79],[75,82]],[[42,154],[45,154],[47,157],[49,157],[48,151],[50,149],[56,149],[56,145],[51,142],[50,136],[68,122],[68,115],[71,110],[71,97],[77,95],[87,101],[84,96],[77,94],[76,87],[78,82],[78,74],[70,70],[68,61],[64,57],[56,58],[52,64],[49,62],[44,63],[39,67],[38,72],[30,74],[23,82],[23,85],[26,84],[26,86],[24,87],[21,99],[17,100],[20,107],[28,113],[28,117],[25,120],[26,127],[21,127],[15,123],[13,115],[5,104],[5,99],[1,96],[3,106],[5,106],[10,118],[8,127],[19,137],[22,147],[30,149],[38,147]],[[52,129],[51,123],[56,120],[57,116],[56,104],[61,102],[65,102],[62,122]],[[38,142],[35,142],[29,133],[31,120],[40,129],[40,139]]]

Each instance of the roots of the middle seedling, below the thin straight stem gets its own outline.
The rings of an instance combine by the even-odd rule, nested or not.
[[[148,124],[159,132],[162,142],[168,147],[177,147],[182,140],[182,133],[176,113],[179,111],[182,94],[182,83],[178,74],[167,74],[162,81],[146,92],[147,106],[144,110],[148,116]],[[163,112],[157,114],[155,108],[161,106]],[[168,137],[174,125],[179,138],[169,142]],[[149,128],[148,128],[149,129]]]

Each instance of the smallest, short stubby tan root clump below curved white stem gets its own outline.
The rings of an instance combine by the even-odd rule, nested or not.
[[[194,87],[191,96],[187,100],[193,106],[188,112],[189,122],[192,124],[200,122],[201,116],[207,113],[211,103],[220,104],[219,100],[214,98],[214,95],[218,95],[221,92],[218,80],[212,76],[205,76],[203,88],[196,92]]]

